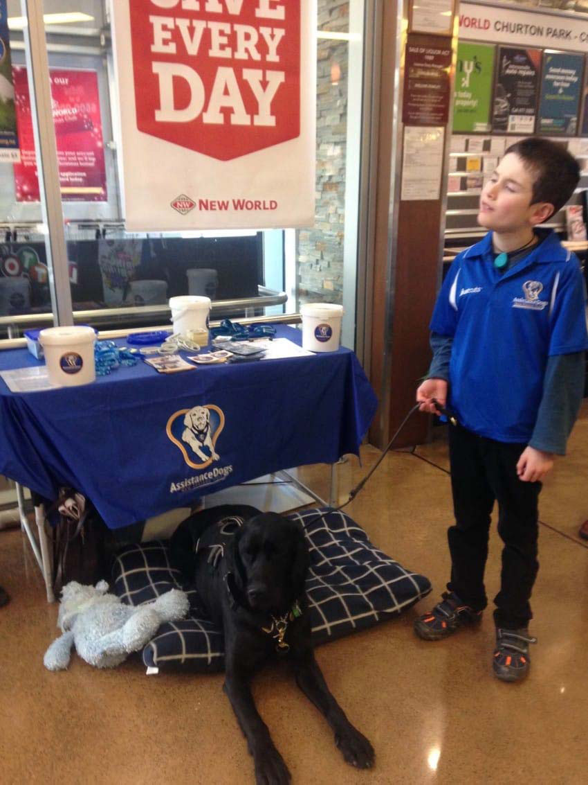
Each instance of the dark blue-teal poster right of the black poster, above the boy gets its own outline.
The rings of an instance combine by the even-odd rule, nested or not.
[[[578,132],[583,71],[584,57],[581,54],[543,53],[538,133],[573,137]]]

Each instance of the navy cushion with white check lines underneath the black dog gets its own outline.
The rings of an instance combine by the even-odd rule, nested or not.
[[[378,550],[365,531],[345,513],[317,509],[292,513],[303,525],[310,552],[307,577],[314,644],[333,641],[399,615],[425,597],[430,582]],[[165,542],[129,546],[115,559],[113,591],[123,602],[139,605],[169,589],[184,588],[170,563]],[[163,624],[143,649],[143,663],[158,668],[223,670],[223,636],[188,591],[190,617]]]

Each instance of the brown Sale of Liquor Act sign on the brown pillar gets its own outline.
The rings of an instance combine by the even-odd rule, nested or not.
[[[452,48],[443,38],[409,35],[405,56],[402,122],[441,126],[448,120]]]

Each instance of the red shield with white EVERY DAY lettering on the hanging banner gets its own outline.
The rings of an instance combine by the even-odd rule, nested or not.
[[[299,2],[201,5],[130,0],[137,128],[221,161],[298,137]]]

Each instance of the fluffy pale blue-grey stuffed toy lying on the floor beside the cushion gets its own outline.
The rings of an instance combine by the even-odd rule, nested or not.
[[[63,635],[45,652],[46,668],[67,668],[72,646],[86,663],[114,668],[151,641],[162,623],[179,621],[188,612],[187,595],[177,589],[136,607],[107,591],[106,581],[96,586],[71,581],[64,586],[57,617]]]

